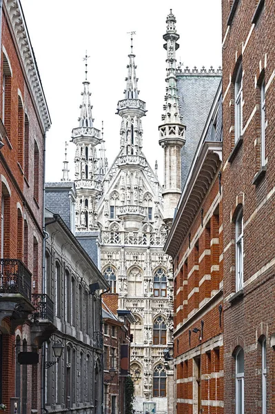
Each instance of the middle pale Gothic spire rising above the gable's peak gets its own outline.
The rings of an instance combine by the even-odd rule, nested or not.
[[[145,102],[139,99],[139,90],[137,88],[136,65],[134,58],[136,57],[133,50],[133,34],[131,34],[131,53],[128,55],[129,64],[128,77],[125,78],[126,87],[124,90],[124,99],[117,104],[117,114],[121,116],[121,155],[141,156],[143,128],[141,117],[145,115]],[[129,161],[125,159],[124,161]],[[134,163],[139,163],[139,159],[132,157]]]

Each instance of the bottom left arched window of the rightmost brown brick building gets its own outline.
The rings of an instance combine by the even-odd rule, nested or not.
[[[243,348],[236,353],[236,414],[245,414],[245,355]]]

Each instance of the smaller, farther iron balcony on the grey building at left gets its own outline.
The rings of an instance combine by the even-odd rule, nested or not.
[[[57,331],[54,325],[54,302],[45,293],[34,293],[32,295],[33,324],[30,328],[32,343],[41,348],[43,342],[48,341],[52,333]]]

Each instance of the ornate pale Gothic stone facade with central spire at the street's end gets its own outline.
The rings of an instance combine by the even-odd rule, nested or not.
[[[97,226],[101,271],[111,292],[119,293],[119,309],[132,311],[136,317],[131,326],[130,368],[141,372],[135,382],[136,413],[143,413],[144,403],[152,402],[157,412],[164,414],[169,411],[167,390],[173,382],[173,371],[164,358],[167,349],[172,348],[172,266],[163,253],[166,229],[157,164],[152,170],[142,150],[145,102],[139,99],[135,55],[131,51],[128,56],[126,88],[117,107],[121,116],[120,150],[103,179],[99,168],[90,173],[89,166],[89,162],[105,166],[105,159],[96,160],[95,156],[99,135],[94,142],[92,132],[88,132],[88,139],[80,133],[75,139],[73,130],[77,144],[77,230],[85,233]],[[84,95],[89,97],[87,81],[84,86]],[[85,102],[90,105],[88,98]]]

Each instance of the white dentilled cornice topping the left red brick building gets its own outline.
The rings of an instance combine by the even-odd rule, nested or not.
[[[43,130],[46,132],[51,125],[50,114],[45,100],[39,70],[37,68],[34,52],[32,50],[32,44],[30,42],[28,28],[26,26],[21,4],[19,0],[4,0],[4,3],[12,25],[14,37],[17,41],[17,46],[21,55],[21,62],[23,63],[23,68],[32,92],[32,97],[37,107]]]

